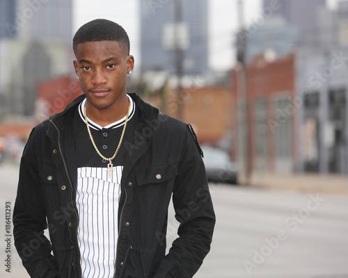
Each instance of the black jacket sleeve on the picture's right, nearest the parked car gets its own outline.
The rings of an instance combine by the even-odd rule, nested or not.
[[[196,134],[191,126],[182,136],[182,156],[173,189],[175,218],[180,222],[171,249],[154,278],[189,278],[210,250],[215,225],[212,199]]]

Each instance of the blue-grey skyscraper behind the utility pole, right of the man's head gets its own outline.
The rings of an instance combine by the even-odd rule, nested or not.
[[[168,38],[175,26],[176,1],[140,1],[141,69],[175,72],[175,51]],[[182,0],[183,73],[207,71],[207,0]],[[173,35],[172,35],[173,37]],[[173,39],[173,38],[172,38]]]

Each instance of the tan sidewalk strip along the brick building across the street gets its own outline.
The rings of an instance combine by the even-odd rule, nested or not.
[[[240,174],[239,183],[246,186],[245,175]],[[313,173],[253,173],[251,175],[249,186],[311,193],[348,195],[348,176]]]

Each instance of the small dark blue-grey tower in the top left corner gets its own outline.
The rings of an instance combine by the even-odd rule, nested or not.
[[[15,24],[15,3],[14,0],[0,1],[0,39],[11,37],[7,26]]]

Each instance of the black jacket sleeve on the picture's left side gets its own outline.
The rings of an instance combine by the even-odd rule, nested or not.
[[[52,245],[44,236],[47,229],[45,199],[38,174],[38,154],[33,142],[36,146],[42,142],[34,129],[24,148],[19,168],[13,234],[15,247],[30,277],[52,278],[58,276],[58,270],[51,254]]]

